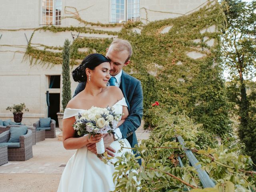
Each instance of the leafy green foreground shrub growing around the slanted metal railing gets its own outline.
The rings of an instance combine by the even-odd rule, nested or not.
[[[162,108],[150,112],[158,116],[154,122],[156,128],[148,140],[142,140],[140,147],[135,147],[144,160],[142,166],[130,154],[118,157],[114,164],[114,177],[117,178],[115,192],[136,191],[138,187],[142,192],[256,191],[253,162],[250,156],[241,154],[245,146],[236,143],[234,136],[228,134],[218,144],[214,135],[202,130],[202,125],[195,124],[185,112],[180,113],[175,108],[170,113]],[[185,140],[186,148],[194,153],[202,169],[213,179],[216,184],[214,188],[202,188],[197,172],[190,166],[176,136],[182,136]],[[179,165],[178,157],[183,167]],[[132,170],[138,170],[138,173],[128,174]],[[140,186],[136,180],[141,181]]]

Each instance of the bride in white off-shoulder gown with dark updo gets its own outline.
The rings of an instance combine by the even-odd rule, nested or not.
[[[102,54],[90,54],[73,71],[73,78],[78,82],[86,82],[84,91],[80,92],[68,102],[63,118],[63,145],[67,150],[77,149],[70,158],[62,173],[58,192],[109,192],[115,189],[112,164],[105,164],[96,154],[87,149],[86,145],[99,142],[104,137],[98,134],[95,137],[88,135],[76,137],[72,124],[76,121],[78,112],[90,109],[92,106],[106,108],[112,106],[116,114],[122,114],[118,126],[128,116],[127,104],[122,91],[116,86],[107,86],[110,79],[110,63]],[[111,134],[112,135],[112,134]],[[128,140],[121,140],[124,147],[131,148]],[[110,145],[116,151],[120,149],[118,141]],[[130,149],[123,149],[115,156],[125,152],[132,153]],[[115,159],[112,159],[114,162]]]

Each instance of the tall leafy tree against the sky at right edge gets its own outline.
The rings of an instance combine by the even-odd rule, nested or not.
[[[222,6],[227,19],[222,48],[224,66],[230,71],[228,96],[238,106],[240,140],[246,144],[246,153],[255,161],[254,97],[247,89],[256,69],[256,1],[223,0]]]

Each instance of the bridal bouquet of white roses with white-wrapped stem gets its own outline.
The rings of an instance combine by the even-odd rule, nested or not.
[[[117,126],[119,118],[122,114],[116,114],[114,108],[99,108],[92,106],[85,112],[78,113],[78,118],[74,122],[74,130],[78,135],[88,134],[95,136],[96,134],[111,133]],[[96,143],[97,156],[102,157],[105,152],[103,139]]]

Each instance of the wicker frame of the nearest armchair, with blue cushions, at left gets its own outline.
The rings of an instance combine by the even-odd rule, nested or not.
[[[8,142],[10,130],[0,134],[0,143]],[[19,148],[8,148],[8,161],[26,161],[33,157],[32,152],[32,131],[27,130],[25,135],[20,136]]]

